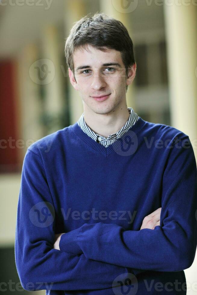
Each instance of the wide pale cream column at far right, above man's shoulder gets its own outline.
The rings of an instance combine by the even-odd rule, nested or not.
[[[164,4],[171,125],[189,135],[197,158],[197,6]]]

